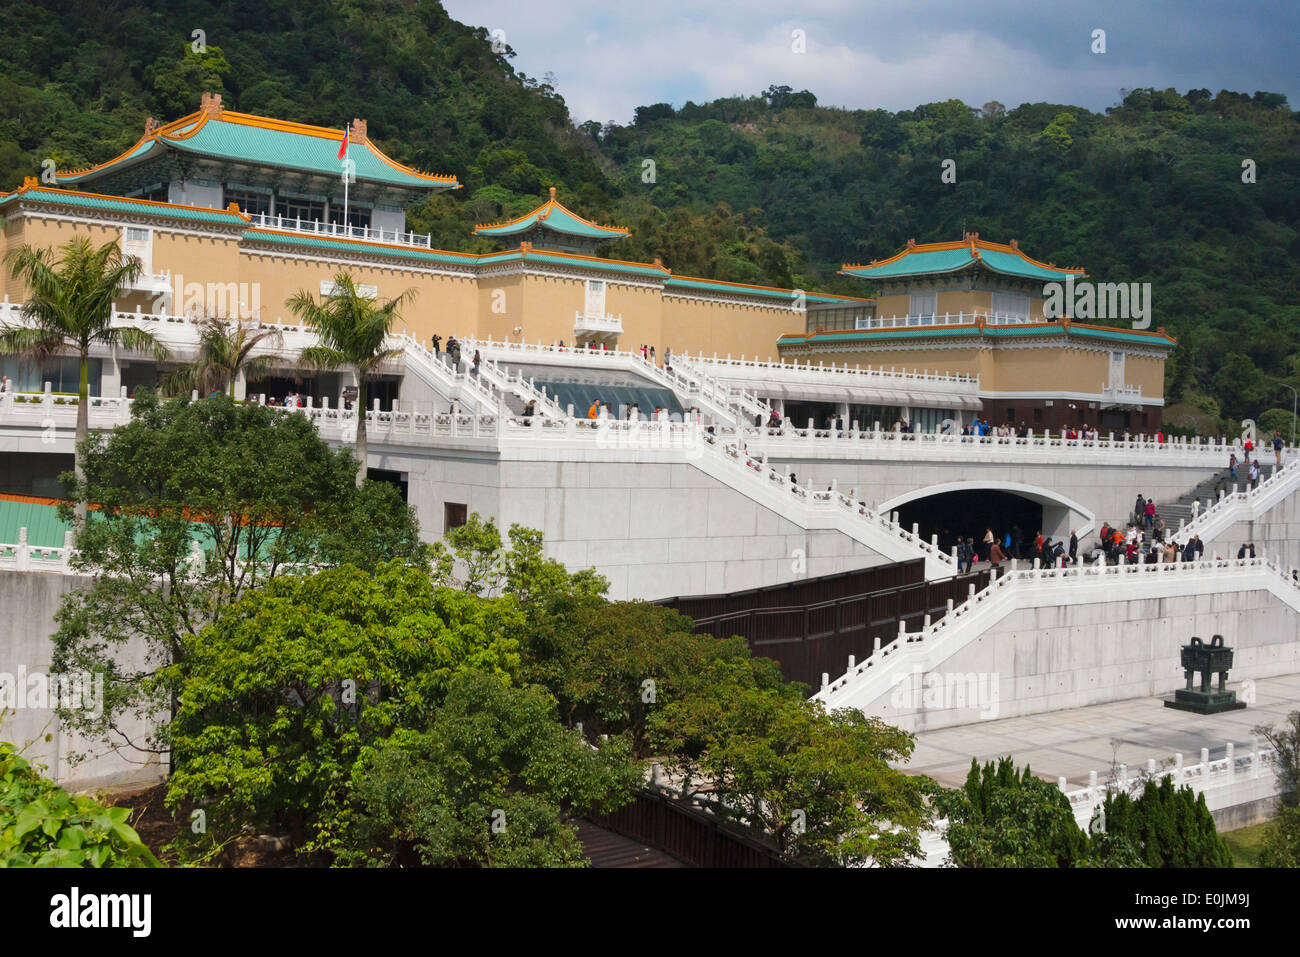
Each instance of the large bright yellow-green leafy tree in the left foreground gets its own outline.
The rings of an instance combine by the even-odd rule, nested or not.
[[[428,727],[459,674],[515,681],[520,625],[512,601],[399,563],[274,579],[185,636],[168,668],[168,805],[204,806],[212,840],[252,823],[335,850],[363,750]]]

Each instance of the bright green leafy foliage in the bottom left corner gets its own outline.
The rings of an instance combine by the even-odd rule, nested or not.
[[[129,818],[69,794],[0,741],[0,867],[161,867]]]

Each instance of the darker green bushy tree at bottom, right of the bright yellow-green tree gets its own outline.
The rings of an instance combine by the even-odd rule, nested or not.
[[[632,800],[640,771],[618,740],[592,748],[536,685],[464,672],[428,731],[402,729],[352,771],[341,863],[572,867],[566,818]]]

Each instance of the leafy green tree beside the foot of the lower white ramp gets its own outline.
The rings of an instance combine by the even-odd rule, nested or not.
[[[926,780],[893,767],[911,735],[857,710],[827,714],[770,666],[718,662],[656,707],[651,740],[670,772],[790,859],[906,866],[931,818]]]

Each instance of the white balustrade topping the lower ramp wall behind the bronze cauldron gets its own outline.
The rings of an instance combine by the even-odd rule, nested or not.
[[[1208,599],[1258,590],[1269,592],[1292,612],[1300,614],[1300,584],[1294,570],[1279,568],[1265,558],[1011,571],[996,577],[979,593],[974,593],[972,586],[971,597],[949,610],[939,622],[931,624],[927,615],[926,627],[919,632],[907,633],[900,628],[897,637],[884,646],[878,640],[867,658],[854,662],[835,680],[826,680],[812,697],[827,707],[855,707],[871,713],[881,698],[900,687],[905,676],[941,671],[945,662],[978,642],[1002,619],[1024,609],[1078,610],[1093,603],[1148,602],[1144,607],[1150,614],[1144,620],[1154,628],[1157,624],[1166,624],[1165,612],[1156,605],[1162,599]],[[1083,631],[1096,635],[1100,622],[1101,619],[1092,622]],[[1294,619],[1287,627],[1288,635],[1274,637],[1279,642],[1290,642],[1287,653],[1295,655],[1300,649],[1300,629]],[[1188,632],[1183,636],[1184,640],[1191,635]],[[1078,640],[1086,641],[1083,637]],[[1061,670],[1066,670],[1066,666],[1062,664]],[[988,668],[989,674],[993,671],[994,668]],[[1171,674],[1176,674],[1176,668]],[[1011,675],[1004,677],[1014,680]],[[1080,697],[1087,697],[1086,692]],[[1058,707],[1072,706],[1066,697],[1061,702]],[[914,703],[910,700],[904,702],[902,710],[909,710],[906,706]]]

